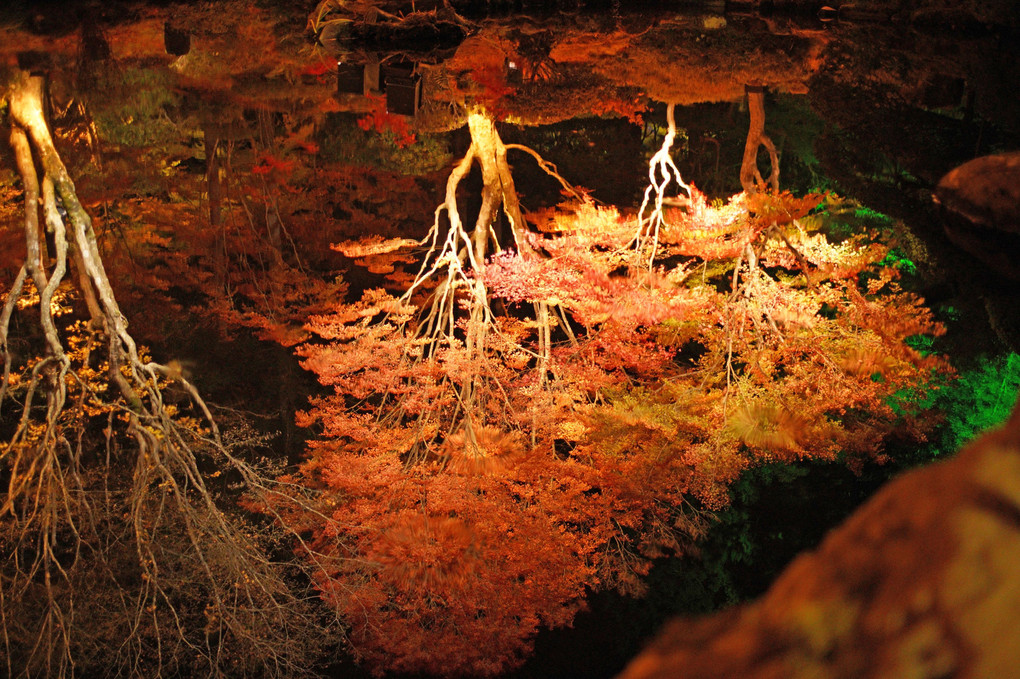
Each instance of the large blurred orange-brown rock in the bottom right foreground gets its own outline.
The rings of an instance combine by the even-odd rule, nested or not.
[[[670,624],[620,679],[1020,676],[1020,409],[889,483],[758,602]]]

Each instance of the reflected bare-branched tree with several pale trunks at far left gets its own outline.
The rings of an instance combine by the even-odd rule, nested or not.
[[[221,443],[206,404],[180,369],[148,360],[129,333],[92,219],[50,135],[44,98],[43,77],[0,73],[0,103],[8,105],[24,189],[27,253],[0,313],[0,408],[9,409],[4,419],[13,423],[0,446],[6,674],[81,672],[80,656],[94,655],[102,643],[90,635],[115,634],[122,645],[109,656],[131,668],[118,668],[128,674],[149,674],[145,667],[158,674],[171,647],[186,648],[188,662],[202,659],[199,666],[217,674],[226,662],[222,644],[237,642],[286,675],[294,616],[303,615],[297,612],[304,605],[253,536],[218,509],[204,473],[210,465],[225,466],[256,497],[264,481]],[[47,256],[43,227],[54,244]],[[71,266],[91,317],[85,329],[57,322]],[[14,365],[8,334],[15,308],[33,302],[30,281],[45,347],[38,360]],[[95,371],[103,365],[105,383]],[[164,407],[167,380],[190,395],[204,425],[183,422]],[[105,440],[97,430],[105,431]],[[200,455],[207,458],[201,464]],[[123,590],[124,581],[140,584]],[[88,608],[81,602],[98,583],[110,596],[95,594],[105,607],[102,630],[80,620]],[[178,586],[190,591],[174,593]],[[195,597],[202,602],[197,612],[180,603]],[[196,613],[207,616],[204,631],[181,624]]]

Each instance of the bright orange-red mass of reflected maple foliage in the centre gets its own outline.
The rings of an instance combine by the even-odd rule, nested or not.
[[[370,667],[501,672],[588,592],[641,592],[748,467],[883,458],[900,395],[946,369],[905,340],[940,328],[826,200],[692,189],[654,245],[574,202],[475,270],[437,250],[403,297],[311,319],[332,394],[287,480],[321,514],[290,521]]]

